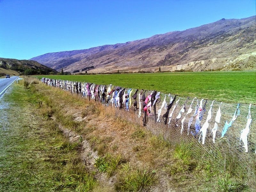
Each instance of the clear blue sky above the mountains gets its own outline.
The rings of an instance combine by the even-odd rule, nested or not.
[[[0,57],[125,43],[222,18],[255,15],[255,0],[0,0]]]

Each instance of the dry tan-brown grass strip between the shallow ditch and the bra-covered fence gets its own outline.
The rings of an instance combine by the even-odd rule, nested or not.
[[[69,121],[78,118],[80,125],[83,126],[79,133],[91,143],[98,155],[122,154],[131,165],[143,165],[148,169],[155,169],[156,165],[160,168],[159,162],[168,162],[169,146],[164,144],[159,147],[161,144],[158,143],[158,138],[139,124],[116,117],[115,108],[105,108],[99,102],[88,101],[78,95],[41,83],[33,86],[49,99],[49,103],[39,101],[42,115],[47,118],[52,115],[58,116],[56,119],[62,124],[67,118]],[[135,148],[137,150],[134,151]]]

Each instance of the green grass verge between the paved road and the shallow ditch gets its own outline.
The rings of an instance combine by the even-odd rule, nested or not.
[[[80,143],[38,115],[32,90],[13,84],[1,98],[0,191],[91,191],[98,181],[79,157]]]

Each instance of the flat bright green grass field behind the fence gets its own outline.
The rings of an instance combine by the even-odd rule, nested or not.
[[[255,72],[48,75],[44,77],[157,90],[183,97],[256,104]]]

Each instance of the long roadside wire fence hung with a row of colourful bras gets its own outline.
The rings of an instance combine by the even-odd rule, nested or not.
[[[40,77],[36,78],[46,83],[47,85],[60,87],[63,90],[70,91],[75,94],[81,94],[87,99],[89,97],[88,95],[86,95],[88,93],[86,93],[85,91],[85,82],[80,83]],[[71,84],[73,84],[73,87]],[[94,86],[94,90],[97,88],[95,84],[88,84],[90,86]],[[76,88],[76,86],[78,86],[78,88]],[[79,86],[81,88],[79,88]],[[102,91],[103,87],[106,88],[105,92]],[[159,98],[156,100],[156,104],[152,105],[152,107],[149,106],[148,110],[145,110],[144,112],[142,102],[140,102],[141,96],[145,93],[145,96],[147,97],[153,91],[143,90],[142,94],[140,94],[141,90],[138,90],[137,97],[134,97],[135,99],[133,99],[132,96],[136,92],[136,89],[126,88],[126,92],[124,91],[124,94],[126,94],[126,97],[128,97],[129,99],[128,108],[126,107],[127,105],[124,102],[123,108],[119,109],[120,107],[116,107],[115,102],[112,100],[115,91],[113,91],[110,96],[108,96],[109,87],[110,85],[101,85],[101,87],[98,86],[100,94],[96,97],[96,100],[102,102],[103,105],[105,105],[106,107],[116,108],[116,116],[120,116],[133,123],[146,125],[145,128],[147,130],[151,131],[157,136],[162,136],[166,141],[170,142],[171,145],[182,145],[184,150],[190,151],[194,158],[201,158],[202,160],[207,160],[211,162],[212,165],[215,164],[216,166],[219,166],[219,169],[223,171],[228,169],[245,182],[250,182],[250,186],[256,187],[256,105],[240,104],[238,108],[240,113],[238,113],[238,105],[236,103],[222,103],[220,101],[212,100],[207,100],[206,102],[206,100],[202,100],[199,98],[184,98],[176,96],[176,100],[174,100],[173,105],[170,108],[169,114],[167,116],[167,123],[164,124],[163,116],[166,113],[167,107],[171,103],[175,95],[160,93]],[[109,90],[115,89],[116,87],[112,86]],[[130,94],[128,93],[129,90],[132,91],[130,92]],[[102,97],[103,93],[106,94],[106,97]],[[109,97],[110,100],[108,100]],[[124,100],[127,99],[125,97],[123,98]],[[92,99],[92,97],[90,99]],[[120,100],[122,100],[122,98],[120,98]],[[137,109],[133,106],[135,101],[137,101]],[[166,103],[164,103],[164,101],[166,101]],[[139,107],[140,105],[141,110]],[[204,110],[202,110],[204,111],[203,116],[202,113],[200,113],[201,107],[204,108]],[[161,108],[162,110],[160,111]],[[219,108],[221,112],[220,121],[218,121]],[[248,116],[249,108],[251,116]],[[199,110],[198,113],[195,113],[196,110]],[[150,113],[149,116],[147,114],[147,111]],[[236,115],[237,118],[233,118]],[[145,116],[146,121],[144,122],[143,119],[145,119]],[[196,120],[198,119],[198,117],[200,119]],[[247,125],[247,117],[249,119],[252,119],[251,124],[249,124],[250,126]],[[216,130],[215,142],[213,142],[214,128],[216,128],[214,127],[214,124],[216,119],[218,129]],[[190,129],[188,129],[188,124],[189,121],[191,123],[191,120],[192,124],[190,126]],[[229,127],[229,123],[231,120],[234,121],[232,121],[232,125]],[[207,122],[209,124],[208,127]],[[182,123],[183,130],[181,126]],[[204,127],[204,130],[198,130],[198,123],[200,124],[199,128]],[[228,127],[228,129],[223,136],[223,127],[225,125],[226,128]],[[244,130],[242,134],[244,140],[240,140],[242,130]],[[195,134],[196,131],[198,131],[197,134]],[[248,134],[246,134],[247,132]],[[248,140],[248,151],[246,150],[246,143],[244,143],[246,142],[246,139]],[[202,142],[202,140],[204,140],[204,142]]]

